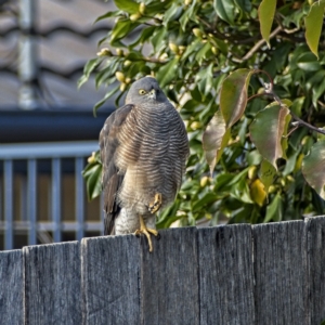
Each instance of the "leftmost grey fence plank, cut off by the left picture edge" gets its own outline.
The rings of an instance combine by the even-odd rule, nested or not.
[[[0,324],[24,324],[24,268],[21,250],[0,251]]]

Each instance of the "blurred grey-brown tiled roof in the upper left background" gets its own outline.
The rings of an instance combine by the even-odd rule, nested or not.
[[[1,5],[2,2],[4,1],[0,2],[0,110],[17,109],[21,84],[16,74],[21,32],[17,14],[13,14],[18,12],[18,1],[11,0]],[[3,8],[10,11],[1,11]],[[98,24],[93,22],[114,9],[113,1],[37,1],[36,31],[41,35],[37,38],[41,108],[92,109],[94,103],[103,98],[105,89],[96,91],[93,80],[83,84],[81,90],[77,89],[77,80],[84,63],[96,55],[98,41],[112,28],[107,21]],[[112,103],[106,104],[109,105]]]

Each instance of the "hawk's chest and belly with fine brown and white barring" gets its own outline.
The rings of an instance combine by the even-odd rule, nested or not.
[[[183,121],[177,110],[152,109],[128,117],[116,155],[125,179],[118,199],[138,213],[147,213],[156,193],[170,204],[181,185],[187,150]]]

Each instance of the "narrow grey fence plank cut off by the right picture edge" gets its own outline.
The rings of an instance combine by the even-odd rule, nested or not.
[[[325,321],[325,218],[306,220],[308,247],[308,310],[311,325]]]

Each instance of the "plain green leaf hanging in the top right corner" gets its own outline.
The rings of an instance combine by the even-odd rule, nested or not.
[[[323,16],[325,9],[325,0],[317,1],[310,8],[309,14],[304,18],[306,41],[310,50],[318,58],[318,43],[323,28]]]

